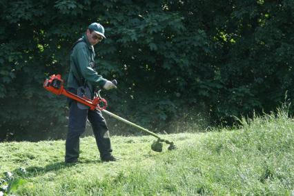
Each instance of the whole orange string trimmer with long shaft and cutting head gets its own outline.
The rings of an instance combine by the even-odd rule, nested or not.
[[[113,80],[113,84],[117,85],[117,81]],[[151,145],[151,149],[156,152],[162,151],[162,142],[165,142],[166,144],[169,144],[168,150],[175,149],[175,144],[173,144],[173,141],[168,141],[167,139],[162,139],[159,137],[159,135],[153,133],[152,131],[143,128],[137,124],[134,124],[122,117],[119,117],[118,115],[113,114],[112,112],[109,112],[106,110],[106,107],[108,106],[106,99],[101,98],[100,96],[100,90],[95,93],[94,99],[88,99],[85,95],[83,97],[79,97],[78,95],[73,94],[72,92],[68,92],[65,88],[63,88],[63,79],[61,79],[61,75],[52,75],[49,77],[49,79],[46,79],[44,81],[43,87],[46,88],[46,90],[56,94],[56,95],[64,95],[66,97],[69,97],[70,99],[74,99],[75,101],[78,101],[81,104],[84,104],[89,107],[90,110],[101,110],[102,112],[110,115],[111,117],[114,117],[115,119],[118,119],[119,121],[123,121],[126,124],[129,124],[130,126],[139,128],[140,130],[143,130],[144,132],[148,133],[149,135],[153,135],[154,137],[157,137],[157,141],[154,141]]]

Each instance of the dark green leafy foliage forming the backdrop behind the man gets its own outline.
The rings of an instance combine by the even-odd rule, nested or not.
[[[108,37],[95,47],[97,71],[119,81],[105,95],[109,110],[147,128],[160,130],[181,108],[195,107],[211,124],[230,125],[233,116],[270,112],[286,90],[294,95],[292,1],[0,5],[1,140],[63,137],[66,99],[42,83],[52,74],[66,78],[70,46],[92,21]]]

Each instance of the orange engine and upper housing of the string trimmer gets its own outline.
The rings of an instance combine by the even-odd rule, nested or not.
[[[61,75],[51,75],[49,79],[44,81],[43,87],[55,95],[64,95],[70,99],[79,101],[81,104],[89,106],[90,110],[104,110],[108,106],[106,99],[100,97],[100,90],[94,99],[88,99],[85,95],[83,97],[79,97],[72,92],[68,92],[63,87],[63,79],[61,79]]]

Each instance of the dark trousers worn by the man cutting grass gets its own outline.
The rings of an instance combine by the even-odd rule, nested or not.
[[[81,110],[77,101],[70,101],[68,135],[66,137],[66,162],[75,162],[79,158],[79,137],[86,129],[86,121],[92,124],[100,157],[108,157],[112,153],[109,131],[106,121],[99,110]]]

